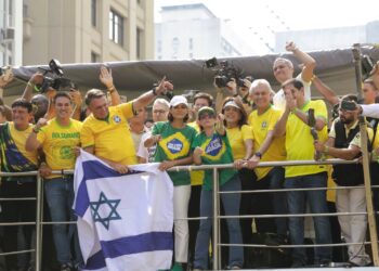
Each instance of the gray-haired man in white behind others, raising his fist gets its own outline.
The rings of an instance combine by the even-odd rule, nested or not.
[[[308,53],[300,51],[299,48],[292,41],[286,43],[286,50],[288,52],[292,52],[293,55],[302,63],[302,70],[296,78],[300,80],[304,86],[305,101],[310,101],[311,83],[314,78],[313,69],[316,66],[316,61]],[[293,78],[293,64],[287,59],[278,57],[274,62],[273,72],[276,80],[282,85],[288,79]],[[285,111],[286,99],[283,89],[276,92],[273,102],[277,108],[279,108],[280,111]]]

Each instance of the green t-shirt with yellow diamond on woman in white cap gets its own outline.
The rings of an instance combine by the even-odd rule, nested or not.
[[[196,136],[196,130],[190,126],[175,129],[169,121],[156,122],[152,134],[160,134],[157,151],[154,156],[155,162],[175,160],[192,155],[191,145]],[[186,185],[191,183],[190,172],[168,172],[173,185]]]

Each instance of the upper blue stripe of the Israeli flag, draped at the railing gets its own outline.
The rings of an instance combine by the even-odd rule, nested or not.
[[[93,179],[100,179],[100,178],[136,175],[142,172],[142,171],[132,170],[126,175],[120,175],[116,170],[104,166],[99,160],[86,160],[81,165],[83,168],[83,179],[80,182],[78,193],[77,193],[77,198],[80,198],[80,201],[76,201],[76,205],[75,205],[75,212],[79,217],[84,216],[86,210],[90,204],[90,198],[88,197],[88,191],[87,191],[87,183],[86,183],[87,181],[93,180]]]

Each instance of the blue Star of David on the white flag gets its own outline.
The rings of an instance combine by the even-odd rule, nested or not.
[[[103,192],[100,193],[100,197],[97,202],[90,202],[92,218],[95,222],[101,222],[105,229],[109,230],[110,220],[119,220],[121,219],[120,215],[118,215],[116,208],[119,205],[121,199],[108,199]],[[100,207],[102,205],[106,205],[110,210],[107,216],[102,217],[99,212]],[[104,207],[103,207],[104,210]]]

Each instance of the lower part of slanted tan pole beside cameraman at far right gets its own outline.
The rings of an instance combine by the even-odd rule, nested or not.
[[[365,192],[366,192],[366,205],[367,205],[367,219],[368,219],[368,230],[371,241],[371,251],[373,261],[375,267],[379,267],[379,254],[378,254],[378,235],[377,235],[377,224],[375,220],[375,210],[373,204],[373,191],[371,191],[371,180],[369,171],[369,155],[367,151],[367,130],[366,130],[366,119],[360,117],[360,132],[361,132],[361,151],[363,156],[363,175],[365,181]]]

